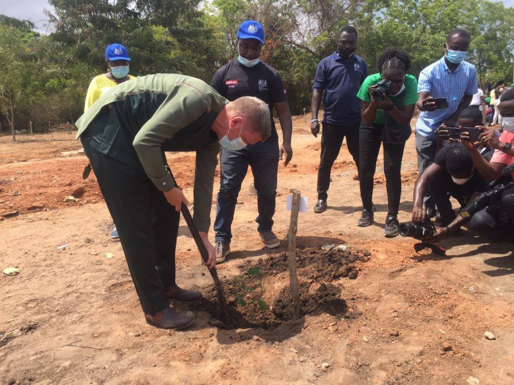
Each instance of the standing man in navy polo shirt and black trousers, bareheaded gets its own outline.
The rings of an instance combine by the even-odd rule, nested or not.
[[[310,105],[310,130],[317,138],[320,132],[318,112],[321,94],[325,91],[323,105],[323,132],[321,134],[321,161],[318,168],[318,203],[315,213],[326,210],[330,172],[346,137],[346,145],[357,169],[359,168],[359,124],[361,100],[357,98],[360,86],[368,76],[368,65],[354,51],[357,30],[346,26],[337,36],[338,50],[325,57],[316,70],[313,100]]]

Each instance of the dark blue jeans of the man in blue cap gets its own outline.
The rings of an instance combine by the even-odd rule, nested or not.
[[[220,158],[221,176],[214,221],[215,240],[230,244],[231,226],[235,204],[246,177],[248,166],[252,169],[253,184],[257,190],[259,215],[255,219],[259,233],[271,231],[275,213],[277,172],[279,169],[279,146],[277,142],[256,143],[242,150],[222,148]]]

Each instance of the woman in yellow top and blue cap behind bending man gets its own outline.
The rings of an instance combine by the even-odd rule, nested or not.
[[[95,103],[102,94],[109,88],[127,80],[136,79],[136,76],[128,74],[128,51],[121,44],[111,44],[105,49],[105,61],[107,62],[107,73],[95,76],[87,88],[86,103],[84,112]],[[116,224],[111,232],[111,238],[118,239]]]

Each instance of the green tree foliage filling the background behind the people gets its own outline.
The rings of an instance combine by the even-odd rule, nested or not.
[[[250,18],[265,28],[262,59],[279,70],[293,113],[310,105],[318,62],[343,25],[359,32],[357,54],[375,71],[384,49],[411,55],[411,73],[443,56],[453,28],[472,37],[479,82],[512,83],[514,9],[487,0],[49,0],[55,31],[0,15],[0,108],[4,123],[34,129],[73,122],[88,83],[105,72],[105,47],[121,43],[131,73],[178,72],[210,82],[237,56],[236,32]],[[17,103],[16,103],[17,101]],[[12,106],[12,108],[11,108]]]

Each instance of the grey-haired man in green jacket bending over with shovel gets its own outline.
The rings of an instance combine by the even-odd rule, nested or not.
[[[120,229],[146,322],[187,328],[193,314],[172,311],[168,299],[201,298],[175,282],[180,206],[189,203],[168,172],[163,151],[196,151],[193,219],[209,252],[207,266],[213,268],[208,230],[219,144],[266,140],[269,109],[256,98],[229,102],[205,82],[178,74],[141,76],[113,91],[77,121],[77,138]]]

